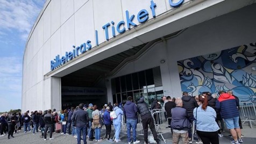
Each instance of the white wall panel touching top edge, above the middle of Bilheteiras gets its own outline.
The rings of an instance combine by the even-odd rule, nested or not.
[[[61,25],[67,21],[74,14],[74,1],[61,0]]]

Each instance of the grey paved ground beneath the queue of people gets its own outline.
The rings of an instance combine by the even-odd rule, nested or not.
[[[245,135],[245,138],[243,138],[244,143],[245,144],[251,144],[251,143],[256,143],[256,125],[253,126],[253,128],[248,127],[247,125],[243,125],[244,129],[243,129],[243,134]],[[163,137],[166,139],[166,143],[172,143],[172,135],[168,132],[169,129],[165,129],[165,128],[161,128],[161,131],[163,132],[167,132],[165,134],[163,134]],[[140,132],[138,132],[140,133]],[[138,134],[137,133],[137,134]],[[102,129],[102,137],[105,134],[105,129]],[[230,138],[227,136],[229,133],[224,132],[223,133],[224,136],[222,138],[219,138],[219,143],[230,143]],[[113,136],[113,131],[111,133],[111,135]],[[61,135],[61,134],[53,134],[53,140],[49,140],[49,137],[47,135],[47,140],[44,141],[44,138],[39,138],[39,133],[37,134],[32,134],[32,132],[29,133],[23,133],[20,132],[18,134],[14,134],[13,136],[15,136],[15,138],[11,138],[10,140],[7,139],[7,135],[5,136],[1,136],[0,137],[0,143],[24,143],[24,144],[29,144],[29,143],[76,143],[76,139],[71,136],[71,135]],[[159,136],[160,138],[161,136]],[[127,143],[127,138],[126,138],[126,134],[122,133],[120,134],[120,139],[122,140],[119,143]],[[138,135],[137,139],[140,140],[140,143],[144,143],[143,140],[143,135]],[[83,143],[83,142],[81,142]],[[110,143],[116,143],[116,142],[107,142],[106,139],[104,139],[102,142],[91,142],[87,140],[87,143],[101,143],[101,144],[110,144]],[[163,141],[161,141],[162,144],[164,144]],[[194,142],[195,143],[195,142]]]

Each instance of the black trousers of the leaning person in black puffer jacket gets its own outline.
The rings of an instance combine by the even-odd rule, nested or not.
[[[142,120],[142,125],[143,125],[143,131],[144,131],[144,141],[146,143],[148,143],[148,139],[147,139],[148,125],[150,125],[150,130],[153,134],[154,140],[158,142],[157,132],[155,131],[154,119],[152,117],[145,118],[145,119]]]

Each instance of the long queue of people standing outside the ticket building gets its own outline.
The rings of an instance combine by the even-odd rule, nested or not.
[[[239,123],[239,99],[232,95],[232,91],[227,93],[221,91],[218,98],[210,92],[202,92],[196,97],[183,92],[182,98],[172,99],[170,96],[163,96],[162,102],[163,105],[160,100],[152,100],[151,109],[155,111],[165,109],[165,119],[168,121],[166,128],[170,128],[173,143],[179,143],[180,138],[182,143],[193,143],[191,126],[195,121],[195,133],[199,136],[196,143],[218,144],[219,138],[223,136],[222,132],[225,132],[223,119],[233,138],[230,142],[235,144],[243,142],[242,127]],[[44,131],[44,140],[47,140],[47,133],[49,133],[49,140],[52,140],[54,139],[53,132],[59,132],[63,135],[74,136],[77,143],[81,141],[87,143],[87,138],[89,141],[101,142],[101,131],[104,126],[106,141],[121,142],[119,135],[124,116],[127,142],[136,144],[140,142],[136,132],[138,114],[140,114],[143,125],[144,143],[149,143],[148,127],[155,143],[160,143],[155,131],[155,124],[160,123],[158,121],[160,118],[152,117],[152,112],[144,101],[144,97],[134,102],[131,96],[127,97],[124,105],[115,103],[112,106],[108,103],[103,105],[100,111],[97,105],[90,103],[87,106],[81,103],[76,108],[61,110],[60,113],[57,113],[55,109],[44,112],[34,111],[30,116],[29,111],[24,114],[13,113],[9,116],[4,113],[0,118],[0,133],[1,136],[8,133],[8,139],[14,138],[13,133],[19,132],[23,125],[24,133],[30,132],[31,127],[33,134]],[[115,128],[115,139],[111,139],[112,125]]]

